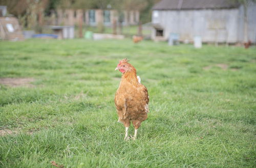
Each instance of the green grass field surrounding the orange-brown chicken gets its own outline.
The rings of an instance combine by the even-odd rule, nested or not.
[[[114,105],[123,58],[150,94],[136,141]],[[32,82],[0,85],[0,166],[255,167],[255,63],[255,47],[2,41],[1,79]]]

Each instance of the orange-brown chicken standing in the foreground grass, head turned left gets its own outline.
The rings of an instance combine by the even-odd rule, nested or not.
[[[134,126],[134,136],[136,139],[138,128],[147,119],[149,97],[147,89],[140,83],[140,77],[136,74],[136,69],[127,59],[119,61],[115,70],[122,73],[119,88],[115,94],[115,105],[118,114],[118,122],[125,127],[124,139],[127,140],[128,129],[131,121]]]

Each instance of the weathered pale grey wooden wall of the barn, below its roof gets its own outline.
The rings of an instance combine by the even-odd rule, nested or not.
[[[256,42],[256,6],[248,9],[249,39]],[[170,33],[178,33],[180,40],[193,41],[201,36],[203,42],[243,41],[243,8],[237,9],[203,9],[203,10],[161,10],[153,11],[152,23],[163,27],[164,39]],[[152,31],[156,39],[156,30]]]

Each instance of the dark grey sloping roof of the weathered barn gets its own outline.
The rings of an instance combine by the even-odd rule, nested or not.
[[[221,9],[238,7],[238,3],[230,0],[162,0],[153,7],[153,10]]]

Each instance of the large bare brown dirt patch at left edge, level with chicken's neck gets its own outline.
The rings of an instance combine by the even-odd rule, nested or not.
[[[0,78],[0,84],[9,86],[9,87],[34,87],[34,85],[30,84],[30,82],[34,81],[33,78],[26,77],[26,78]]]

